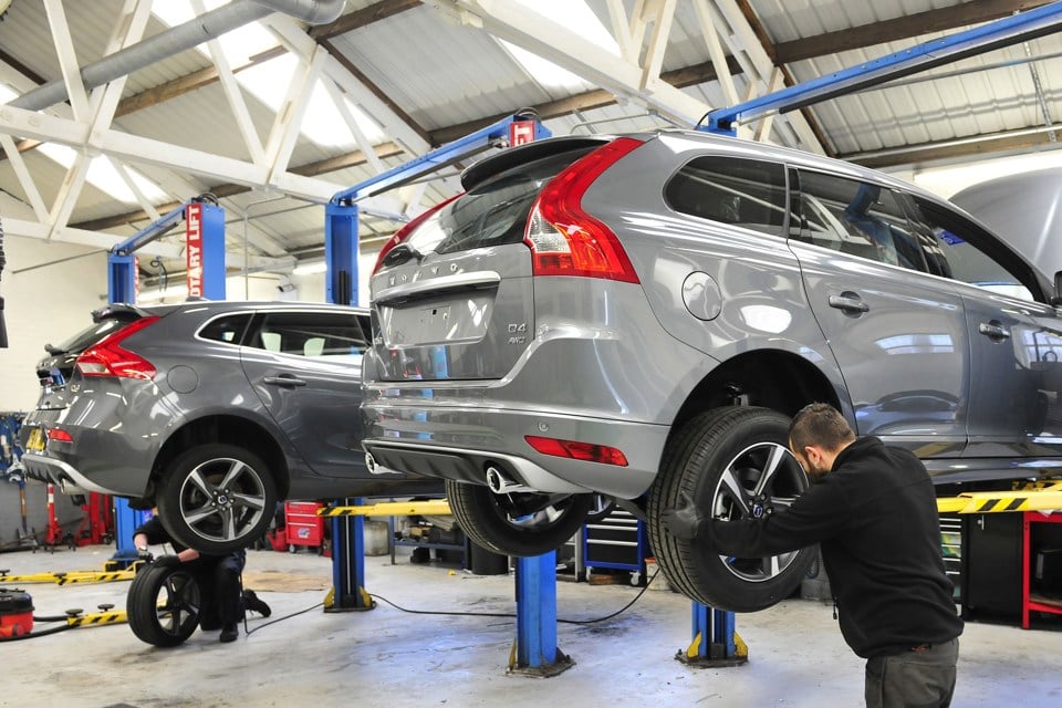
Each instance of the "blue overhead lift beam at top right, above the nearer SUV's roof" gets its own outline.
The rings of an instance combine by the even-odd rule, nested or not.
[[[754,121],[773,113],[788,113],[813,103],[879,85],[894,79],[982,54],[993,49],[1018,44],[1062,28],[1062,2],[1052,2],[965,32],[933,40],[888,56],[850,66],[833,74],[806,81],[789,88],[717,108],[706,116],[709,133],[737,134],[738,123]]]

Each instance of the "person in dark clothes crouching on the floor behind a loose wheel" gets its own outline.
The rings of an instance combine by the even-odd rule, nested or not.
[[[204,632],[221,629],[221,642],[235,642],[240,635],[239,622],[246,610],[253,610],[264,617],[270,615],[269,605],[259,600],[254,591],[242,587],[240,573],[247,561],[243,549],[223,555],[208,555],[185,548],[166,532],[157,516],[133,531],[133,544],[140,554],[147,553],[148,544],[169,543],[176,555],[160,555],[154,560],[158,568],[184,568],[199,585],[199,628]]]

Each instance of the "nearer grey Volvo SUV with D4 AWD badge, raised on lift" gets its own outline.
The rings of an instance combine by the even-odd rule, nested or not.
[[[532,143],[462,183],[372,277],[364,447],[445,479],[480,545],[546,552],[604,494],[675,586],[752,611],[814,551],[714,555],[660,513],[683,492],[730,520],[791,503],[810,402],[938,483],[1062,467],[1056,284],[926,191],[693,132]]]

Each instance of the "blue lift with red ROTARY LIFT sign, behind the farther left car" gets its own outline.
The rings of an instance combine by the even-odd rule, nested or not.
[[[212,202],[212,197],[204,195],[186,201],[111,248],[107,253],[107,302],[136,302],[139,288],[135,252],[171,231],[181,220],[185,221],[188,295],[225,300],[225,210]],[[117,552],[111,559],[113,562],[125,568],[137,560],[133,531],[146,519],[145,511],[131,509],[127,500],[114,498]]]

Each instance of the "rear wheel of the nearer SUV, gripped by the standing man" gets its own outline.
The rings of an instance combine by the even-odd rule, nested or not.
[[[769,558],[719,555],[683,541],[660,523],[685,492],[714,519],[737,521],[790,506],[808,488],[787,447],[789,419],[767,408],[727,407],[689,420],[669,440],[649,491],[648,531],[668,581],[691,600],[732,612],[756,612],[788,597],[816,549]]]

